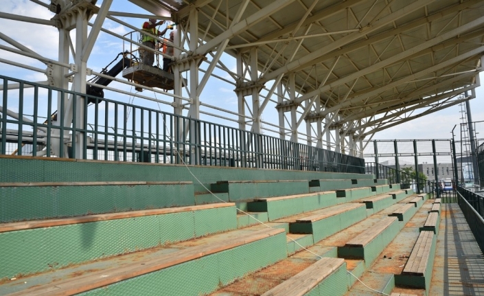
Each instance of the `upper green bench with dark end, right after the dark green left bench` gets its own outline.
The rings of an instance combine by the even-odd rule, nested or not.
[[[227,192],[229,201],[238,202],[254,198],[309,193],[309,183],[306,180],[217,181],[211,184],[211,190],[214,193]]]

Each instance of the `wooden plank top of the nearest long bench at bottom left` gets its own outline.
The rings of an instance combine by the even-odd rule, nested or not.
[[[85,291],[100,288],[115,282],[122,280],[128,280],[132,277],[151,273],[153,271],[159,271],[176,264],[181,264],[190,260],[218,253],[227,249],[242,246],[243,244],[249,244],[270,236],[283,233],[284,229],[262,229],[260,231],[254,231],[253,234],[248,234],[240,238],[231,238],[230,240],[222,240],[214,242],[212,244],[198,245],[194,247],[188,247],[180,251],[168,253],[167,255],[160,256],[156,260],[137,261],[127,263],[122,266],[115,266],[112,268],[104,269],[102,271],[93,271],[77,277],[71,277],[66,280],[59,280],[51,284],[44,286],[34,286],[26,291],[20,291],[13,293],[11,296],[28,295],[40,296],[40,295],[73,295],[82,293]]]

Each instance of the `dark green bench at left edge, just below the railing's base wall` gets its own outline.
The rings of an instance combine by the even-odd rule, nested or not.
[[[0,223],[194,204],[191,181],[0,183]]]

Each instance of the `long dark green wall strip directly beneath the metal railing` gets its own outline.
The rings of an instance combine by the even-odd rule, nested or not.
[[[105,161],[63,161],[1,158],[0,182],[81,182],[81,181],[198,181],[182,165]],[[370,174],[303,172],[225,167],[191,167],[203,184],[222,180],[316,180],[373,179]],[[197,187],[197,190],[198,187]]]

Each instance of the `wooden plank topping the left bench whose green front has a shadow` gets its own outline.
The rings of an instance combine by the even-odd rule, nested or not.
[[[219,207],[234,207],[235,203],[211,203],[208,205],[190,205],[187,207],[165,207],[163,209],[143,209],[141,211],[117,212],[108,214],[95,214],[89,216],[68,217],[49,220],[32,220],[14,223],[0,224],[0,233],[7,231],[34,229],[41,227],[53,227],[61,225],[71,225],[79,223],[89,223],[104,220],[115,220],[123,218],[134,218],[141,216],[153,216],[163,214],[173,214],[181,212],[192,212],[202,209],[216,209]]]

